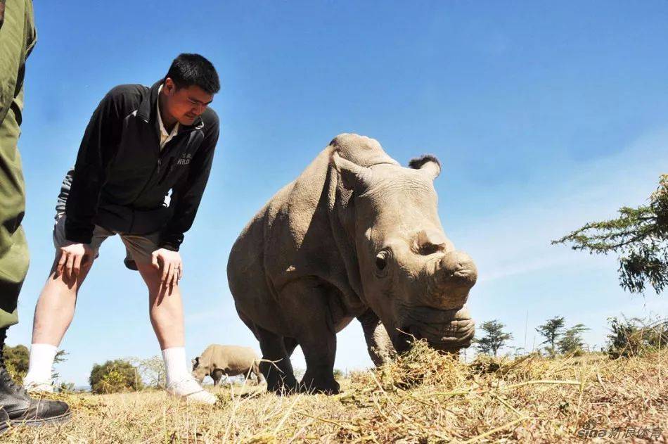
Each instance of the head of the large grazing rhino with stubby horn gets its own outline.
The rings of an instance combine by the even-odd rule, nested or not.
[[[399,351],[409,347],[410,335],[439,350],[468,347],[475,323],[464,304],[477,269],[439,220],[433,185],[439,161],[423,156],[402,167],[390,160],[362,167],[333,151],[341,183],[352,192],[365,302]]]

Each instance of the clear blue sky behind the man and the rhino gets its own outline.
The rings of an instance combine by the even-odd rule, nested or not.
[[[582,322],[668,312],[666,296],[624,293],[614,257],[550,246],[589,220],[638,205],[668,172],[668,4],[646,1],[35,1],[20,151],[32,262],[8,343],[30,343],[53,259],[60,181],[92,110],[116,84],[152,84],[180,52],[202,53],[222,89],[221,137],[181,248],[186,350],[257,342],[226,279],[250,217],[341,132],[378,139],[402,164],[435,153],[444,228],[476,260],[478,321],[538,346],[555,315]],[[160,353],[148,296],[110,239],[79,293],[62,348],[65,381],[94,362]],[[528,328],[526,328],[528,326]],[[525,329],[527,334],[525,335]],[[526,337],[526,339],[525,339]],[[359,324],[339,334],[336,366],[367,367]],[[293,360],[303,367],[299,351]]]

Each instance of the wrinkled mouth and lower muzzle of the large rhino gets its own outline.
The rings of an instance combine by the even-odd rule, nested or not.
[[[431,307],[412,307],[400,324],[399,349],[410,347],[413,338],[426,339],[432,348],[456,352],[471,345],[475,322],[465,307],[437,310]],[[396,348],[396,345],[395,345]]]

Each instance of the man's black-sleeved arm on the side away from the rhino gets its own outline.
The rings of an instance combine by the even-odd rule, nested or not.
[[[86,127],[79,146],[74,179],[65,208],[65,237],[75,243],[91,243],[93,217],[97,213],[106,167],[116,151],[122,130],[120,103],[111,90],[102,99]]]

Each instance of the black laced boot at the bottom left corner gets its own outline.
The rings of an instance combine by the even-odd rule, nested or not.
[[[62,401],[33,399],[9,376],[4,363],[7,329],[0,329],[0,433],[12,426],[39,426],[70,420],[70,407]]]

